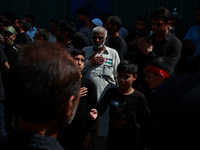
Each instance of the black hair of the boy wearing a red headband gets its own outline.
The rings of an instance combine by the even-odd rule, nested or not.
[[[146,68],[147,66],[158,67],[158,68],[166,71],[167,73],[169,73],[170,76],[173,74],[173,67],[169,61],[169,58],[165,57],[165,56],[159,56],[159,57],[155,57],[155,58],[148,60],[145,63],[144,68]]]

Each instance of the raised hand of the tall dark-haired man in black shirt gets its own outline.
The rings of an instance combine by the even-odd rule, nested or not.
[[[138,39],[137,45],[145,55],[148,55],[149,52],[153,51],[152,40],[150,40],[148,44],[145,39],[141,37]]]

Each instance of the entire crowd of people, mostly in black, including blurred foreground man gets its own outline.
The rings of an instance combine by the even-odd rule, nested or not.
[[[200,6],[186,33],[164,7],[133,33],[87,8],[49,29],[11,14],[0,14],[0,149],[198,149]]]

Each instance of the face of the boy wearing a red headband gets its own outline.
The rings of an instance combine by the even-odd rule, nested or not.
[[[163,78],[161,78],[160,75],[157,75],[155,73],[145,71],[144,74],[145,74],[145,81],[148,83],[149,88],[151,90],[156,89],[164,80]]]

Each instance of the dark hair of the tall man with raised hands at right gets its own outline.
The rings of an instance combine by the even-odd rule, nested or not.
[[[171,20],[171,13],[167,8],[160,7],[151,13],[151,19],[163,20],[165,23]]]

